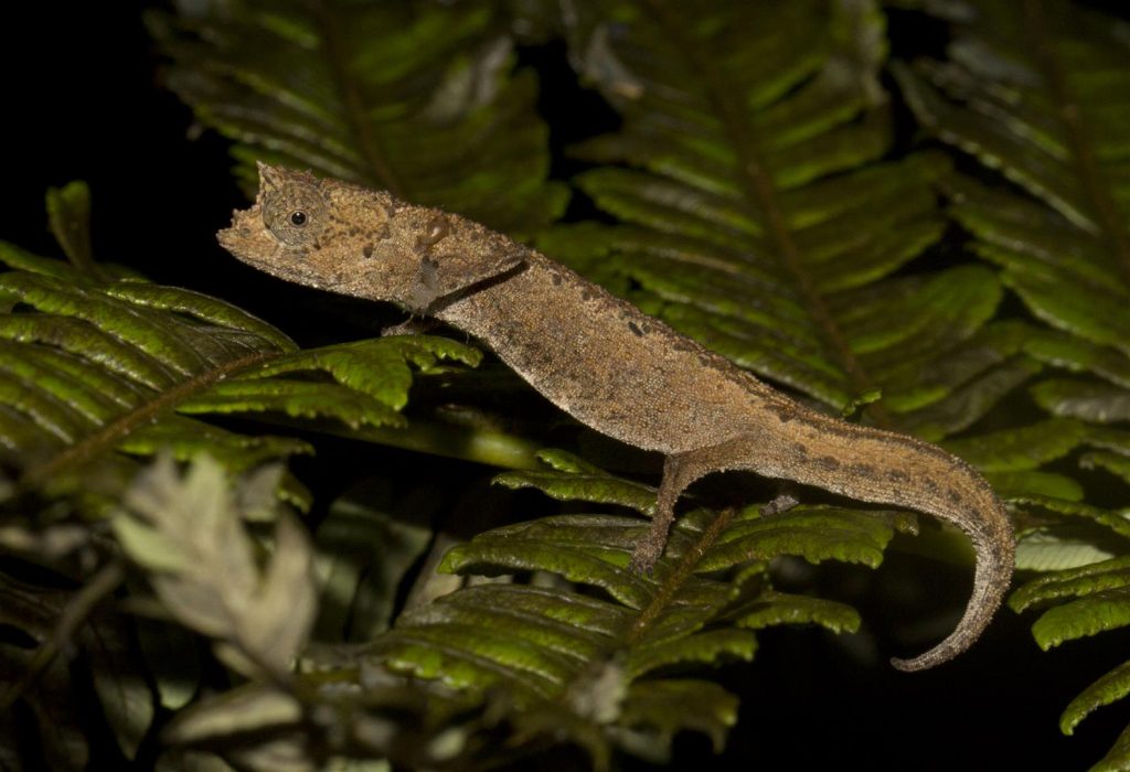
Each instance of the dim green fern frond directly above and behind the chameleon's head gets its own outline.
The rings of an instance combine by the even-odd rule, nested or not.
[[[167,85],[240,142],[249,190],[261,159],[511,234],[564,210],[566,188],[546,181],[537,82],[513,71],[513,41],[489,3],[241,0],[149,19],[173,60]]]

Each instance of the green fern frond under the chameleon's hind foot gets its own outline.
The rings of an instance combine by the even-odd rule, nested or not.
[[[542,458],[551,470],[511,472],[496,482],[533,486],[559,499],[620,503],[646,512],[650,491],[559,450]],[[502,690],[522,710],[572,713],[602,739],[594,758],[620,747],[624,732],[644,732],[667,748],[673,735],[695,729],[720,747],[734,720],[733,698],[707,682],[672,677],[703,665],[751,659],[755,630],[818,624],[854,631],[858,614],[822,598],[773,589],[766,562],[793,554],[875,565],[905,515],[805,507],[763,517],[705,509],[676,524],[666,556],[650,577],[627,569],[646,523],[621,515],[562,515],[504,526],[457,545],[441,570],[458,573],[548,571],[599,588],[548,590],[513,584],[460,589],[409,609],[397,625],[363,648],[364,661],[412,678],[441,679],[481,694]],[[585,712],[579,693],[592,674],[619,684],[611,704]],[[611,673],[611,675],[608,675]],[[579,691],[581,690],[581,691]],[[571,732],[566,732],[571,734]],[[603,749],[601,749],[603,748]]]

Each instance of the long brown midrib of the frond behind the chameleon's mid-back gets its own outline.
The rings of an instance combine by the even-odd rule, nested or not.
[[[714,107],[722,125],[725,126],[725,132],[730,137],[734,155],[738,158],[739,182],[748,205],[765,216],[771,238],[777,245],[774,253],[796,282],[800,291],[800,300],[816,321],[826,349],[846,374],[851,391],[855,394],[862,394],[875,384],[867,377],[859,360],[855,359],[846,339],[840,331],[840,325],[836,324],[827,304],[817,291],[812,278],[801,263],[800,248],[785,223],[776,188],[755,150],[757,146],[754,143],[753,126],[746,120],[742,108],[734,103],[731,91],[725,88],[709,58],[699,51],[697,42],[684,32],[688,25],[680,18],[679,14],[662,0],[649,0],[649,7],[659,19],[663,30],[676,41],[678,50],[687,58],[692,71],[705,86],[706,98]],[[868,405],[868,414],[880,427],[890,424],[889,414],[878,403]]]

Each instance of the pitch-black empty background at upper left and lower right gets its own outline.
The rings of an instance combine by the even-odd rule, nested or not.
[[[289,302],[279,299],[294,297],[286,295],[290,290],[216,245],[215,231],[245,201],[228,174],[226,141],[209,132],[190,140],[191,112],[158,84],[160,60],[141,24],[142,9],[153,5],[113,0],[5,9],[0,239],[58,254],[46,229],[44,191],[85,179],[94,196],[98,260],[217,295],[299,340],[306,333],[332,335],[332,314],[297,324],[288,318]],[[1122,2],[1092,5],[1130,16]],[[935,30],[921,34],[923,46],[937,45],[930,37]],[[544,88],[558,85],[564,61],[553,50],[523,58],[544,69]],[[566,131],[583,133],[585,128]],[[310,332],[310,325],[322,331]],[[922,567],[922,560],[893,552],[883,570],[897,577]],[[928,568],[940,595],[967,591],[966,572]],[[851,572],[843,577],[852,579]],[[893,650],[895,644],[884,639],[883,615],[895,612],[861,613],[864,628],[879,637],[880,651],[912,653]],[[861,665],[849,656],[850,638],[812,630],[764,634],[754,665],[723,672],[723,685],[750,698],[725,761],[744,767],[760,762],[770,769],[845,762],[870,769],[1089,766],[1130,722],[1130,703],[1099,710],[1076,737],[1060,735],[1059,714],[1072,696],[1125,658],[1130,639],[1105,634],[1042,653],[1028,632],[1032,619],[1002,611],[968,655],[918,674],[897,673],[884,663]],[[698,737],[681,738],[678,752],[688,762],[713,763],[709,744]]]

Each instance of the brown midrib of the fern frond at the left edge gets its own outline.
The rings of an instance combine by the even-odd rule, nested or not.
[[[155,420],[166,410],[171,410],[188,397],[202,392],[216,381],[244,368],[252,367],[278,356],[277,351],[260,351],[232,359],[159,393],[149,402],[120,415],[102,427],[102,429],[75,442],[51,460],[28,468],[19,479],[19,491],[27,492],[34,490],[52,476],[59,474],[62,470],[81,464],[104,450],[110,450],[123,438],[128,437],[130,432]]]

